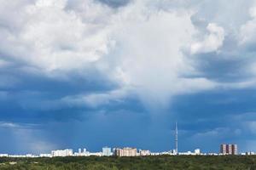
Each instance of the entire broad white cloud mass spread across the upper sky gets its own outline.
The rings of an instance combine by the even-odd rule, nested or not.
[[[23,70],[34,71],[27,69],[34,67],[50,77],[68,77],[68,71],[87,75],[90,69],[95,69],[117,82],[120,90],[129,88],[145,103],[154,105],[166,105],[178,94],[247,88],[253,82],[214,82],[198,71],[198,61],[190,54],[218,52],[230,29],[222,26],[224,22],[219,17],[208,15],[203,18],[207,34],[198,29],[200,26],[195,26],[191,17],[202,16],[204,12],[198,11],[203,11],[200,5],[208,8],[211,3],[193,2],[195,5],[186,0],[174,5],[170,1],[143,0],[110,8],[93,0],[1,1],[0,51],[29,65],[23,66]],[[16,11],[19,17],[9,11]],[[241,26],[241,42],[247,41],[247,35],[253,31],[249,22],[254,21]],[[116,99],[112,93],[89,92],[85,100],[88,104],[108,103],[109,99]]]

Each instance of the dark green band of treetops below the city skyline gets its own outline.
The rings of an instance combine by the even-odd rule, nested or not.
[[[2,170],[256,170],[256,156],[0,158]]]

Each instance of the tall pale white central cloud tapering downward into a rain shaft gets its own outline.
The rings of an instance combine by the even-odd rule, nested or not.
[[[214,88],[207,78],[186,78],[197,75],[194,61],[183,54],[195,34],[193,13],[159,10],[152,2],[146,10],[147,4],[133,3],[119,15],[116,49],[109,53],[115,58],[111,75],[152,105],[166,105],[172,95]]]

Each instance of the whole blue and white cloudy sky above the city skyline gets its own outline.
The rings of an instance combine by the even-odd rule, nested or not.
[[[256,151],[255,0],[0,0],[0,153]]]

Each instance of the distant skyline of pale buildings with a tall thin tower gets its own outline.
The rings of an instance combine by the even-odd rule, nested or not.
[[[220,144],[219,153],[203,153],[200,149],[194,151],[178,152],[177,150],[177,122],[175,126],[175,149],[163,152],[151,152],[150,150],[137,150],[137,148],[124,147],[124,148],[110,148],[108,146],[103,147],[102,151],[90,152],[85,148],[82,150],[79,148],[78,152],[74,152],[72,149],[65,150],[52,150],[50,153],[41,153],[38,155],[26,154],[26,155],[9,155],[0,154],[0,157],[63,157],[63,156],[225,156],[225,155],[256,155],[254,152],[238,152],[237,144]]]

